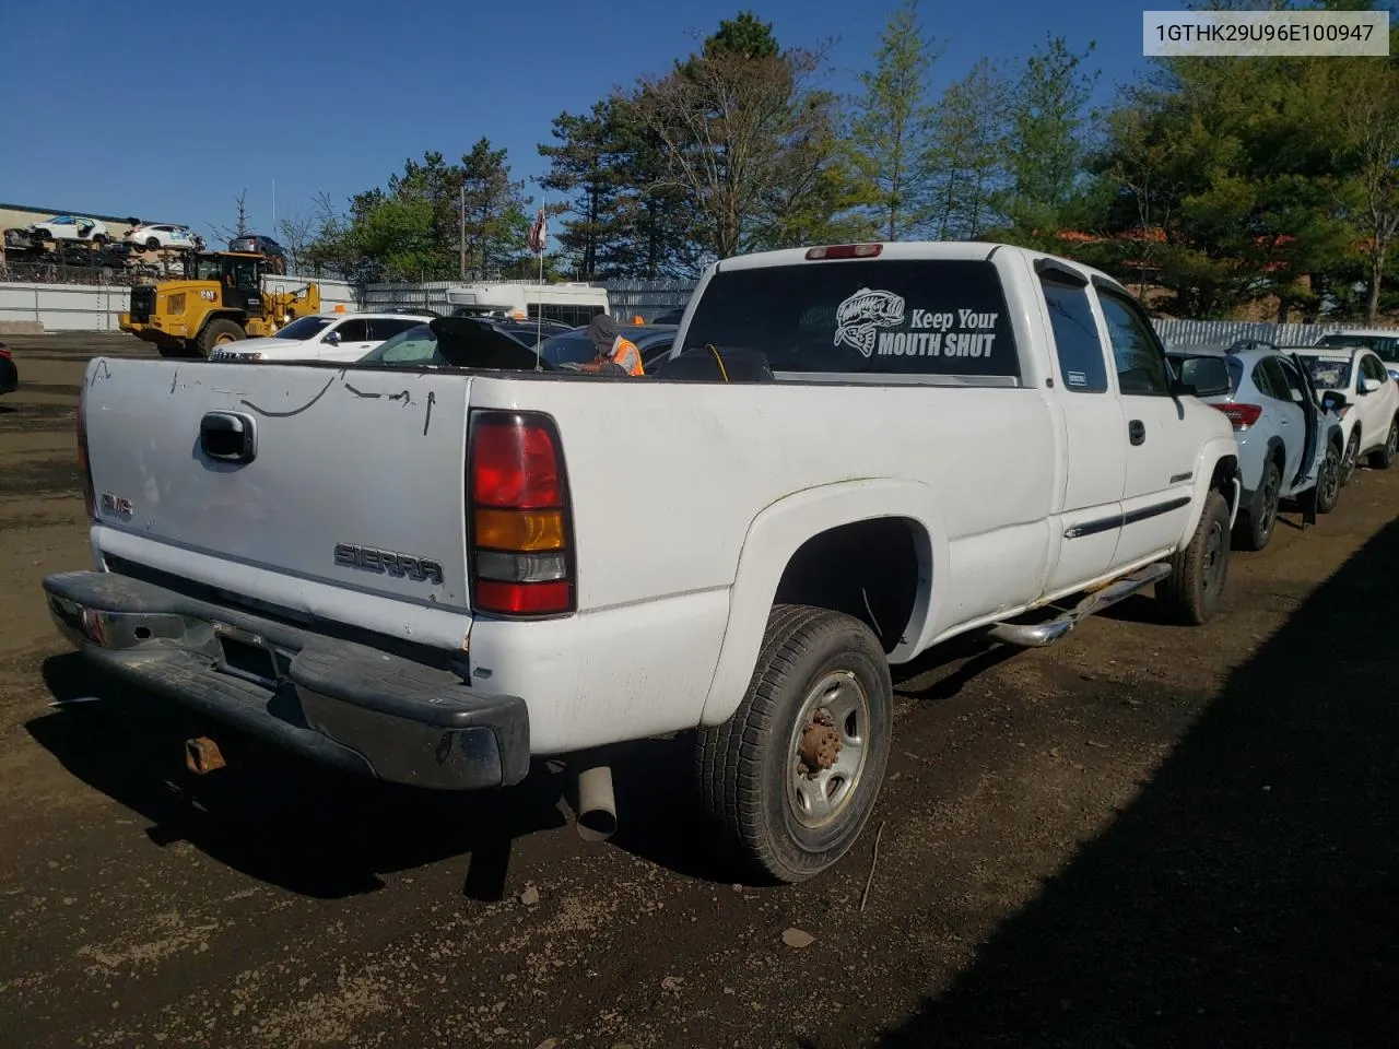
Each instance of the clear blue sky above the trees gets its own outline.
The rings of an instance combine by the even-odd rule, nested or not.
[[[656,3],[113,4],[0,1],[0,201],[210,224],[248,189],[253,228],[382,185],[407,157],[455,159],[478,137],[516,178],[544,165],[561,110],[663,71],[720,18],[751,7],[783,45],[838,38],[834,83],[853,84],[897,0]],[[1167,4],[1161,4],[1167,7]],[[1013,60],[1048,31],[1097,41],[1098,102],[1144,69],[1142,6],[1122,0],[923,0],[946,45],[933,85],[981,57]],[[83,53],[80,42],[91,42]],[[129,43],[123,43],[129,42]],[[526,187],[537,194],[530,182]]]

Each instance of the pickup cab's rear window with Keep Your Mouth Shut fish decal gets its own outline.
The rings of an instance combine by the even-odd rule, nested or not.
[[[716,273],[686,350],[760,350],[775,372],[1016,376],[995,264],[862,259]]]

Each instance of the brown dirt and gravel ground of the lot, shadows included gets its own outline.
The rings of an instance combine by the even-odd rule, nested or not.
[[[1235,554],[1205,628],[1140,597],[901,669],[855,852],[754,888],[694,834],[684,738],[618,769],[604,845],[547,768],[442,797],[235,747],[189,776],[200,726],[87,671],[39,592],[87,566],[84,361],[143,348],[7,341],[0,1046],[1393,1045],[1399,469]]]

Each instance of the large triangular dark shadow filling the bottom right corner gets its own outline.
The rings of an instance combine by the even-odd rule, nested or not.
[[[1323,583],[1142,792],[880,1043],[1392,1045],[1399,522]]]

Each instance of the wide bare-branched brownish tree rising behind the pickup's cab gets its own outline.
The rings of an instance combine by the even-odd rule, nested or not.
[[[660,185],[691,197],[697,239],[727,257],[774,224],[782,190],[814,185],[830,159],[831,98],[814,90],[825,49],[753,55],[706,48],[663,78],[644,78],[630,102],[666,150]]]

